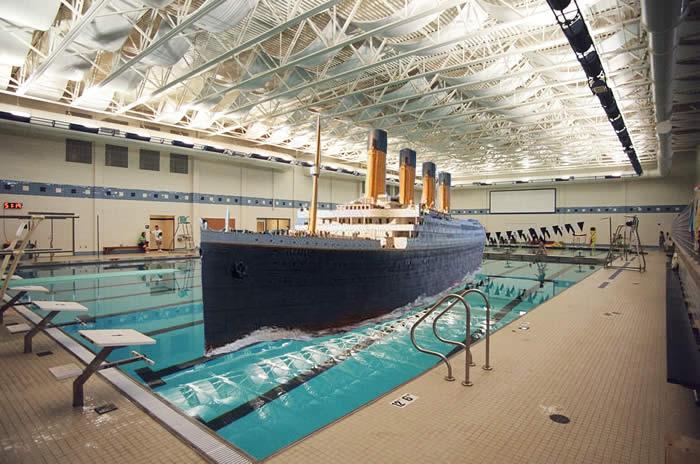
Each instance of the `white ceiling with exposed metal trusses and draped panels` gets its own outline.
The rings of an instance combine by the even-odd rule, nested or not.
[[[653,168],[639,1],[578,3]],[[697,32],[686,33],[679,72],[692,78]],[[675,149],[697,144],[697,83],[680,89],[674,132],[688,133]],[[321,113],[326,158],[363,162],[378,127],[390,153],[412,147],[464,180],[629,167],[545,0],[2,2],[3,89],[300,151]]]

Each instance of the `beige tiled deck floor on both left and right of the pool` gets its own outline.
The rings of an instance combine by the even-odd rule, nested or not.
[[[700,409],[665,380],[664,259],[648,255],[645,274],[610,280],[614,271],[598,271],[496,333],[495,369],[473,368],[473,387],[445,382],[438,366],[269,462],[665,462],[667,441],[700,439]],[[21,345],[0,327],[0,462],[203,461],[99,377],[86,386],[87,404],[119,409],[73,410],[71,381],[48,368],[79,361],[45,335],[35,352],[53,355],[24,355]],[[479,365],[483,350],[473,350]],[[463,354],[453,365],[459,379]],[[392,406],[403,393],[418,399]],[[570,423],[552,422],[555,413]]]

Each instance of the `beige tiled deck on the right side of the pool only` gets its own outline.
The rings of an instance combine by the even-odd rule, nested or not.
[[[647,259],[644,274],[600,270],[497,332],[494,370],[473,368],[474,386],[440,365],[269,462],[700,462],[678,448],[665,459],[667,441],[700,439],[700,408],[666,383],[665,257]],[[480,366],[484,344],[473,354]],[[392,406],[403,393],[418,399]]]

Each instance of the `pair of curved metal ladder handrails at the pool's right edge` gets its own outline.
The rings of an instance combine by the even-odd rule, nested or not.
[[[471,307],[469,306],[469,303],[467,303],[466,297],[470,293],[476,293],[477,295],[480,295],[484,299],[484,303],[486,304],[486,362],[482,366],[482,369],[486,371],[490,371],[493,369],[490,364],[490,355],[491,355],[491,345],[490,345],[490,340],[489,340],[489,335],[491,333],[491,304],[489,303],[489,299],[486,296],[484,292],[481,290],[478,290],[476,288],[469,288],[466,289],[462,292],[459,293],[451,293],[442,299],[435,303],[430,309],[428,309],[425,314],[423,314],[414,324],[411,326],[411,342],[413,343],[413,346],[416,347],[418,351],[421,353],[426,353],[432,356],[436,356],[440,358],[442,362],[445,363],[447,366],[447,376],[445,376],[445,380],[451,382],[455,380],[455,378],[452,376],[452,365],[450,364],[450,361],[447,359],[447,356],[443,355],[442,353],[439,353],[437,351],[432,351],[427,348],[424,348],[418,344],[416,341],[416,328],[424,321],[426,320],[432,313],[437,311],[440,306],[447,302],[452,300],[450,304],[447,305],[445,309],[440,311],[440,313],[433,319],[433,334],[435,335],[435,338],[440,340],[443,343],[447,343],[450,345],[455,345],[461,348],[464,348],[465,350],[465,356],[464,356],[464,380],[462,381],[462,385],[465,387],[471,387],[473,384],[469,380],[469,368],[475,366],[474,361],[472,359],[472,352],[471,352]],[[437,330],[437,322],[438,320],[444,316],[449,310],[451,310],[457,303],[462,303],[462,306],[464,307],[464,311],[466,312],[467,315],[467,336],[464,340],[464,343],[457,341],[457,340],[448,340],[446,338],[443,338],[440,336]]]

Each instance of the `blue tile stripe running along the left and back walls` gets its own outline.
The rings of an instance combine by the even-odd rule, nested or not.
[[[54,184],[0,179],[0,193],[5,195],[38,195],[65,198],[95,198],[104,200],[138,200],[171,203],[222,204],[229,206],[265,206],[275,208],[308,208],[308,200],[284,198],[247,197],[218,193],[192,193],[172,190],[142,190],[123,187],[99,187],[89,185]],[[321,209],[333,209],[335,203],[319,203]],[[569,206],[556,209],[557,214],[625,214],[625,213],[679,213],[687,205],[643,206]],[[486,209],[453,209],[452,214],[462,216],[489,214]],[[554,214],[554,213],[553,213]]]

